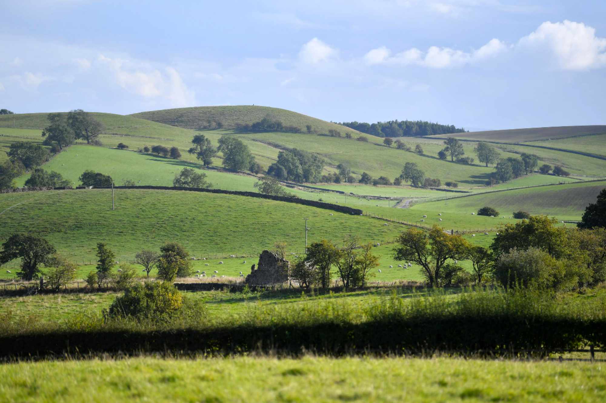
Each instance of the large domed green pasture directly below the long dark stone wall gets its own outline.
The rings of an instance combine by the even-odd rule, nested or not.
[[[261,252],[275,241],[304,249],[304,220],[310,218],[308,241],[393,239],[401,226],[384,226],[370,217],[259,198],[187,191],[110,189],[24,192],[0,195],[3,225],[0,240],[15,232],[34,232],[76,260],[95,257],[97,242],[106,242],[118,260],[141,249],[158,249],[179,241],[195,254],[239,255]],[[334,215],[330,215],[334,214]],[[250,267],[250,266],[249,266]]]

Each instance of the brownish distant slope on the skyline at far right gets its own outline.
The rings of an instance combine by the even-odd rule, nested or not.
[[[444,139],[445,137],[457,137],[468,140],[487,140],[491,142],[522,143],[536,140],[564,139],[574,136],[587,136],[588,134],[606,133],[606,125],[594,126],[554,126],[527,129],[508,129],[475,131],[470,133],[437,134],[431,138]]]

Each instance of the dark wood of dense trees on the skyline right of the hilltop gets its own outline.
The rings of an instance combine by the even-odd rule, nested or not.
[[[424,120],[389,120],[387,122],[342,122],[339,125],[378,137],[431,136],[431,134],[465,133],[464,128]]]

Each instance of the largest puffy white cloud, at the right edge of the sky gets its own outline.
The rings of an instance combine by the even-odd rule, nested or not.
[[[587,70],[606,66],[606,38],[596,36],[595,28],[582,22],[544,22],[519,46],[547,50],[564,70]]]

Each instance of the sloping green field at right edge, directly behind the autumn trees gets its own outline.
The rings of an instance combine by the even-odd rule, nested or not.
[[[429,201],[412,206],[411,211],[419,214],[424,211],[440,211],[470,215],[471,212],[478,212],[478,209],[484,206],[490,206],[501,213],[499,217],[488,217],[489,220],[494,221],[507,221],[501,216],[509,217],[514,211],[519,210],[533,215],[544,214],[560,220],[581,220],[585,207],[589,203],[595,203],[599,192],[604,188],[606,181],[513,189],[445,201]],[[471,216],[470,222],[484,218],[486,217],[474,215]]]

